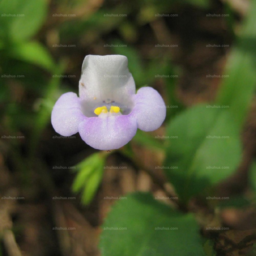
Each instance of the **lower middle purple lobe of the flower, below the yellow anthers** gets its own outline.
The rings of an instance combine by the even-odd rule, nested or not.
[[[137,122],[131,116],[90,117],[79,124],[81,138],[92,148],[111,150],[123,147],[136,134]]]

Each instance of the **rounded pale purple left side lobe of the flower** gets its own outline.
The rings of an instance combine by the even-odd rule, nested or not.
[[[74,92],[60,96],[52,110],[52,126],[62,136],[78,132],[78,125],[86,119],[81,111],[80,99]]]

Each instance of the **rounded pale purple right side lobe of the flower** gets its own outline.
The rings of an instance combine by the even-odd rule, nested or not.
[[[142,87],[133,96],[134,108],[130,113],[137,120],[138,128],[145,132],[161,126],[166,116],[166,106],[161,95],[152,87]]]

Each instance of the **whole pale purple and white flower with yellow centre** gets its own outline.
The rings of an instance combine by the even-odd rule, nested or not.
[[[122,55],[87,55],[79,97],[64,93],[53,107],[54,130],[62,136],[79,132],[92,148],[110,150],[128,143],[137,128],[146,132],[159,128],[166,115],[164,100],[152,87],[136,93],[127,64]]]

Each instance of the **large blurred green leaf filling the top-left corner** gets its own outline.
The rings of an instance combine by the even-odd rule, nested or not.
[[[46,17],[45,0],[2,0],[0,2],[0,37],[5,42],[30,38]]]

